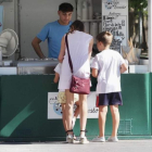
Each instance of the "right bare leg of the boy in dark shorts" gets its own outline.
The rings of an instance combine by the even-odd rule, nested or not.
[[[119,112],[118,112],[118,105],[110,105],[112,118],[113,118],[113,131],[112,137],[117,136],[117,129],[119,125]]]

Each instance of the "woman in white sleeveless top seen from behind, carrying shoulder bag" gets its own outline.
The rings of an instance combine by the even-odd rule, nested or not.
[[[80,21],[75,21],[71,25],[71,31],[67,34],[68,49],[73,63],[74,75],[79,78],[90,77],[90,56],[92,52],[93,38],[92,36],[84,33],[84,24]],[[68,54],[65,45],[65,36],[61,42],[61,51],[59,61],[62,64],[62,76],[60,77],[59,89],[65,89],[66,92],[66,121],[68,136],[67,141],[73,142],[73,105],[74,93],[69,92],[72,80],[72,72],[68,63]],[[85,135],[87,123],[87,94],[79,94],[79,115],[80,115],[80,143],[87,143],[88,140]]]

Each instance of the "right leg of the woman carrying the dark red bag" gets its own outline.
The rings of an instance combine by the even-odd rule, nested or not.
[[[79,94],[80,130],[86,130],[87,114],[87,94]],[[85,137],[85,131],[80,131],[80,137]]]

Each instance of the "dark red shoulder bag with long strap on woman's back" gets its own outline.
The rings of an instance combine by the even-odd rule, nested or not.
[[[68,63],[69,63],[69,67],[73,74],[73,63],[69,55],[67,35],[65,36],[65,42],[66,42],[67,53],[68,53]],[[73,93],[78,93],[78,94],[89,94],[90,93],[90,78],[79,78],[77,76],[72,75],[72,83],[71,83],[69,91]]]

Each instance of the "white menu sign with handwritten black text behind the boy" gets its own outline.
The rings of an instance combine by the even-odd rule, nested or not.
[[[102,0],[102,31],[114,36],[111,49],[121,52],[128,39],[128,0]]]

